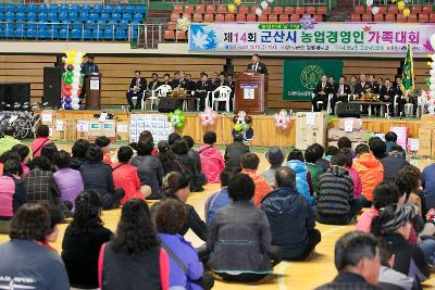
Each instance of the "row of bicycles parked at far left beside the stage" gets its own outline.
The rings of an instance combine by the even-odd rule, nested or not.
[[[46,105],[47,103],[35,103],[30,106],[28,102],[23,104],[1,102],[3,110],[0,112],[0,137],[4,137],[4,129],[8,126],[12,126],[15,129],[15,138],[34,138],[40,118],[38,114],[34,113],[34,109]]]

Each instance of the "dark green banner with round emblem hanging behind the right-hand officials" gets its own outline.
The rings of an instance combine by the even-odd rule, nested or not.
[[[334,76],[335,83],[343,74],[343,61],[284,61],[283,100],[311,100],[322,75]]]

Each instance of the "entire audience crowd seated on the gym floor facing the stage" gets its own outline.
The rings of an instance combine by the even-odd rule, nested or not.
[[[158,150],[144,131],[113,162],[105,137],[77,140],[70,155],[58,151],[47,126],[30,148],[8,126],[0,139],[0,226],[11,241],[0,244],[0,276],[35,289],[210,289],[208,266],[219,279],[260,281],[282,259],[311,256],[321,242],[314,218],[346,225],[371,206],[360,231],[337,241],[339,274],[321,289],[421,289],[435,264],[435,211],[427,210],[435,165],[421,173],[394,133],[385,139],[374,137],[355,152],[346,137],[326,152],[312,144],[290,151],[285,164],[273,147],[270,167],[259,174],[260,159],[241,135],[222,155],[213,131],[196,149],[190,137],[171,134]],[[208,199],[203,222],[187,200],[207,181],[222,188]],[[161,201],[149,209],[145,199]],[[101,211],[121,204],[112,234]],[[61,259],[50,242],[70,215]],[[201,248],[185,240],[188,229],[206,242]]]

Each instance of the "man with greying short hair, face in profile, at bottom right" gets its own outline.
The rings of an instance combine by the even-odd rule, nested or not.
[[[372,235],[351,231],[339,238],[335,243],[334,262],[338,275],[316,290],[378,289],[380,245]]]

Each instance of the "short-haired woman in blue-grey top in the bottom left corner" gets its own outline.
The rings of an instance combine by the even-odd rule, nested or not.
[[[61,257],[44,245],[51,232],[48,207],[23,204],[11,220],[11,240],[0,244],[0,276],[20,277],[20,286],[27,289],[70,290]]]

